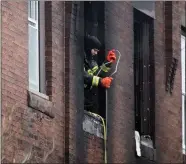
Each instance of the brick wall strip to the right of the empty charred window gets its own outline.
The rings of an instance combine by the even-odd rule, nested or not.
[[[182,161],[180,7],[180,2],[166,2],[165,5],[163,2],[156,2],[154,38],[156,79],[155,145],[158,162],[174,163]],[[169,13],[169,15],[164,17],[164,13]],[[170,14],[172,20],[170,20]],[[178,68],[173,94],[170,95],[165,92],[165,70],[166,66],[168,66],[167,61],[172,56],[178,59]]]

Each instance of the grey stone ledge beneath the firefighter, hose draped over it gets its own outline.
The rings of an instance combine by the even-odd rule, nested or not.
[[[84,111],[83,130],[99,138],[104,138],[102,120],[88,111]]]

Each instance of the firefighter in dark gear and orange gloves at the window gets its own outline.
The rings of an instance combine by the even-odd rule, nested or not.
[[[84,94],[85,94],[85,109],[91,112],[96,112],[95,103],[96,93],[95,88],[110,88],[113,78],[105,77],[106,73],[111,68],[111,65],[116,60],[116,55],[113,51],[109,51],[106,60],[99,67],[95,57],[101,48],[101,43],[95,36],[85,37],[85,57],[84,57]],[[101,71],[100,71],[101,70]],[[97,75],[99,72],[99,75]],[[93,109],[94,108],[94,109]]]

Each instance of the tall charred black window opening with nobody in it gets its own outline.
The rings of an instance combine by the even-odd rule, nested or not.
[[[134,8],[135,130],[149,147],[155,146],[154,19]],[[143,151],[143,150],[142,150]],[[147,154],[143,154],[146,156]],[[150,157],[151,156],[151,157]],[[149,154],[154,158],[154,154]]]

